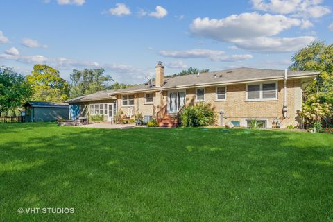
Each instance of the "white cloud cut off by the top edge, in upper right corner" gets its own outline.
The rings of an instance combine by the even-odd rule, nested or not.
[[[256,10],[311,18],[322,17],[331,12],[327,6],[321,6],[322,2],[322,0],[251,0]]]

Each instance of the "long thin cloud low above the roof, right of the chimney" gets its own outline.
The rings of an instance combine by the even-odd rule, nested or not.
[[[225,55],[225,51],[210,49],[190,49],[184,51],[158,51],[161,56],[171,58],[207,58],[212,61],[234,62],[240,60],[248,60],[253,58],[252,55]]]

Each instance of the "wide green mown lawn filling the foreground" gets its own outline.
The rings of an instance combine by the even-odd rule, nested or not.
[[[0,124],[1,220],[333,221],[333,135]]]

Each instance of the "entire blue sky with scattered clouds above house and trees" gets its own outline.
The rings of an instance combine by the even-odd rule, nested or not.
[[[0,66],[104,68],[144,83],[188,67],[285,69],[314,40],[333,43],[332,0],[1,0]]]

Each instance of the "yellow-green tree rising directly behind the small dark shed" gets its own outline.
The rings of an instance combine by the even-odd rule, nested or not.
[[[33,101],[62,102],[69,99],[69,87],[57,69],[48,65],[34,65],[31,76],[26,76],[33,88]]]

